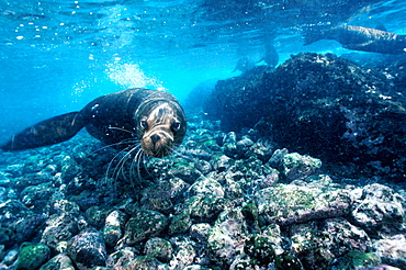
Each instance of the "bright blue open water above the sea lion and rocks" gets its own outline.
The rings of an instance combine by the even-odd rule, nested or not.
[[[269,35],[279,63],[350,53],[334,41],[303,46],[304,26],[341,23],[406,34],[406,1],[1,0],[0,140],[126,88],[183,102],[202,81],[239,75],[241,56],[260,60]]]

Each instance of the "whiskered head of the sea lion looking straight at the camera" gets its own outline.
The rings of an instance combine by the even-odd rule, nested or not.
[[[179,146],[187,133],[184,112],[176,100],[146,101],[138,112],[137,137],[142,149],[151,157],[165,157]]]

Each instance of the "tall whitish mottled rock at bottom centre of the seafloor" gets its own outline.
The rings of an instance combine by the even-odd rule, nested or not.
[[[207,248],[216,263],[227,266],[244,252],[248,229],[240,207],[223,211],[208,232]]]

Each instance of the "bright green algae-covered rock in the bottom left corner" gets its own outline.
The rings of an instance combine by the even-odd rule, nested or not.
[[[38,269],[49,256],[50,250],[46,245],[25,241],[20,247],[15,270]]]

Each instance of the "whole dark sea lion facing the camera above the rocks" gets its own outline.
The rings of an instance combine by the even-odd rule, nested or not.
[[[21,150],[53,145],[74,137],[83,127],[109,146],[131,151],[140,145],[145,154],[160,158],[182,143],[187,120],[169,92],[128,89],[97,98],[79,112],[27,127],[0,148]]]

